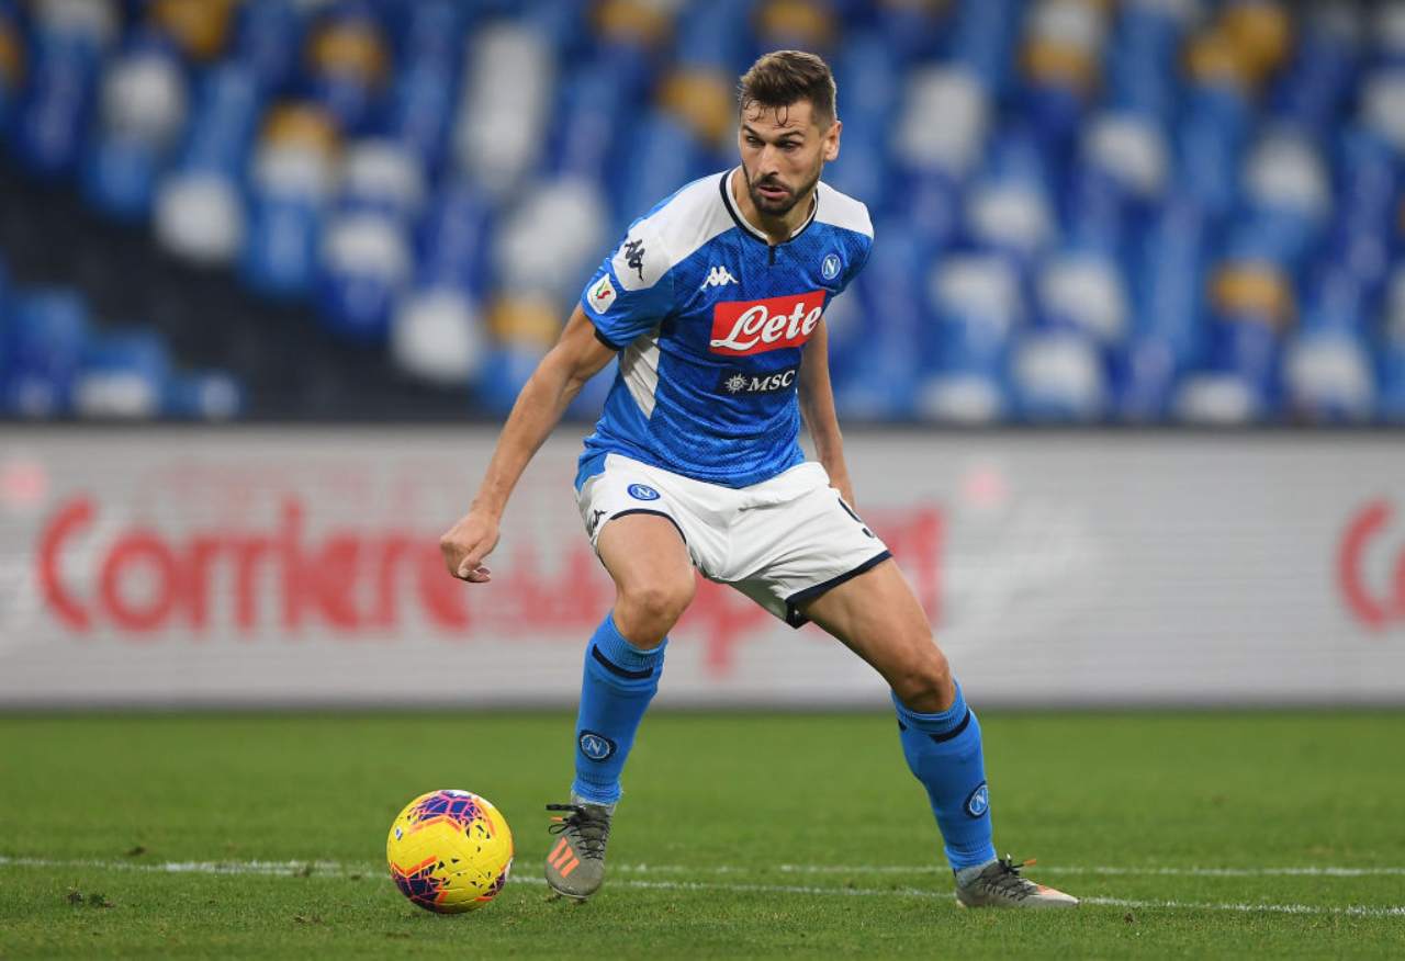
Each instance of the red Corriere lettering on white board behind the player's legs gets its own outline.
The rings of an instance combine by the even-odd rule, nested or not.
[[[309,631],[393,641],[398,632],[426,628],[448,642],[583,642],[614,601],[614,587],[583,535],[559,548],[551,565],[532,541],[500,549],[493,583],[471,587],[444,569],[437,534],[346,527],[315,532],[299,497],[275,504],[263,523],[171,531],[132,521],[112,530],[100,523],[97,500],[73,497],[49,516],[35,545],[45,607],[74,634],[138,643],[201,642],[230,629],[249,641],[295,641]],[[903,565],[936,622],[939,511],[873,511],[865,520]],[[701,641],[707,670],[722,677],[733,669],[738,645],[773,621],[743,594],[702,580],[676,634]]]

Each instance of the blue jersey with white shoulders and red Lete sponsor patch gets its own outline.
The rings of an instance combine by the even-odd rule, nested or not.
[[[607,454],[728,488],[802,462],[801,348],[873,247],[868,208],[821,183],[809,219],[770,244],[729,190],[686,185],[629,225],[580,303],[620,351],[579,488]]]

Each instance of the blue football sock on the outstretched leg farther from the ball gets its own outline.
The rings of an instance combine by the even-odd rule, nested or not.
[[[947,861],[953,871],[995,860],[991,842],[991,794],[981,754],[981,725],[967,708],[957,684],[957,700],[940,714],[917,714],[894,694],[898,731],[908,767],[927,788],[937,816]]]

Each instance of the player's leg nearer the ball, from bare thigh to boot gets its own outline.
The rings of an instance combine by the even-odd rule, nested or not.
[[[697,582],[693,562],[667,517],[635,513],[606,521],[596,540],[615,582],[615,606],[586,648],[576,718],[576,780],[552,830],[547,882],[568,898],[589,898],[604,881],[610,819],[620,774],[643,712],[659,690],[667,634]]]

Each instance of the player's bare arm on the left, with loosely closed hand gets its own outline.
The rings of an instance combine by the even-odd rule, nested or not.
[[[492,579],[483,558],[497,547],[497,525],[513,488],[566,406],[614,355],[615,351],[596,336],[596,325],[576,305],[561,340],[541,358],[517,395],[472,506],[440,538],[440,552],[451,575],[471,583]]]

